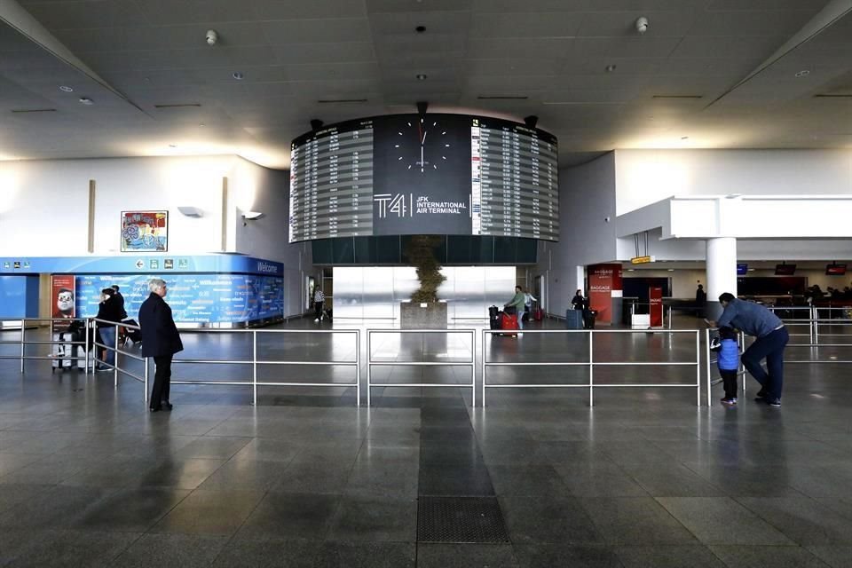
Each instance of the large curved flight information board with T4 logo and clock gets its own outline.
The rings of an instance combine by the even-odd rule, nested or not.
[[[388,114],[314,130],[290,149],[290,242],[559,240],[556,137],[544,130],[466,114]]]

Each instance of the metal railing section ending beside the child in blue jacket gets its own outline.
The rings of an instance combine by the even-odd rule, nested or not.
[[[485,391],[487,389],[565,389],[565,388],[588,388],[588,406],[595,406],[595,389],[611,388],[692,388],[695,389],[696,406],[701,406],[701,336],[698,329],[671,329],[662,333],[666,334],[694,334],[695,335],[695,360],[694,361],[596,361],[595,340],[596,334],[637,334],[647,333],[644,329],[525,329],[526,334],[588,334],[588,361],[489,361],[485,349],[486,337],[488,335],[506,333],[501,329],[482,330],[482,406],[485,406]],[[659,333],[659,332],[658,332]],[[512,383],[512,384],[488,384],[488,367],[588,367],[588,383]],[[595,384],[595,367],[695,367],[695,383],[598,383]]]

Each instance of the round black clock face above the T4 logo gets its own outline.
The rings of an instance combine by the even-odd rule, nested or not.
[[[414,118],[397,131],[397,162],[405,170],[420,172],[442,168],[450,154],[450,138],[440,122],[429,117]]]

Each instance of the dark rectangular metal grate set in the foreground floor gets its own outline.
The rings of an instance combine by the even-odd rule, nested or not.
[[[496,497],[420,497],[418,542],[507,542]]]

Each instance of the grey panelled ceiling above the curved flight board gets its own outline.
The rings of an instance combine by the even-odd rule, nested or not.
[[[417,100],[445,110],[539,115],[540,126],[561,137],[564,163],[613,147],[850,144],[842,129],[852,104],[814,98],[852,92],[850,17],[714,101],[827,0],[21,4],[132,104],[0,25],[3,156],[215,150],[286,167],[289,140],[311,118],[412,112]],[[639,16],[650,21],[643,36],[635,31]],[[426,31],[418,34],[417,26]],[[220,37],[212,47],[204,37],[210,28]],[[801,70],[809,75],[796,78]],[[238,71],[242,81],[233,78]],[[63,93],[60,84],[75,91]],[[660,94],[701,98],[654,99]],[[487,98],[512,95],[524,98]],[[95,105],[81,106],[80,96]],[[320,102],[345,99],[366,102]],[[201,106],[154,108],[181,103]],[[13,116],[21,105],[57,112]]]

